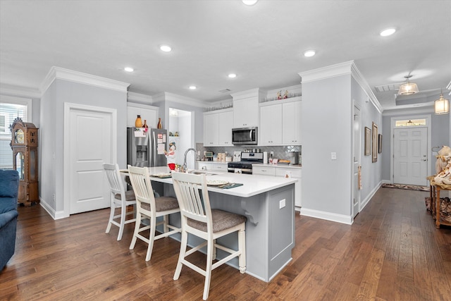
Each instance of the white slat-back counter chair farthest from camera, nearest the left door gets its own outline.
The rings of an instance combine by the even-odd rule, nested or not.
[[[135,219],[125,219],[126,216],[135,214],[135,211],[127,212],[128,206],[136,204],[135,193],[133,190],[125,190],[118,164],[104,163],[103,166],[111,191],[110,218],[105,233],[110,232],[111,225],[118,226],[118,240],[121,240],[125,224],[135,222]],[[121,208],[120,214],[116,214],[116,208]],[[119,219],[119,221],[115,221],[116,219]]]

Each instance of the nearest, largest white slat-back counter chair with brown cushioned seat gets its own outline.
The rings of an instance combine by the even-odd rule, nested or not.
[[[179,278],[183,264],[202,274],[205,277],[203,298],[206,300],[209,297],[212,270],[230,259],[238,257],[240,272],[245,273],[246,271],[246,217],[219,209],[211,209],[205,175],[173,173],[172,178],[182,222],[182,241],[174,280]],[[235,231],[238,232],[237,251],[216,243],[217,238]],[[187,251],[188,233],[206,241]],[[204,246],[207,250],[205,270],[186,259],[187,256]],[[226,251],[230,255],[213,263],[213,260],[216,259],[216,248]]]

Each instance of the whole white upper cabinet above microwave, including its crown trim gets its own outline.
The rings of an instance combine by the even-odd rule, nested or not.
[[[259,102],[264,98],[259,89],[231,94],[233,97],[233,128],[259,126]]]

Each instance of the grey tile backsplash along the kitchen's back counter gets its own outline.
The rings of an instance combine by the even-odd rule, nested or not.
[[[289,146],[274,146],[274,147],[268,147],[268,146],[253,146],[253,145],[247,145],[242,147],[204,147],[203,143],[196,143],[196,149],[197,151],[200,151],[201,158],[204,154],[204,151],[206,152],[213,152],[214,154],[218,152],[227,152],[230,156],[233,155],[233,152],[244,152],[245,149],[260,149],[260,152],[274,152],[274,158],[277,159],[287,159],[289,160],[290,157],[288,156],[289,152],[299,152],[299,154],[302,153],[302,146],[301,145],[289,145]]]

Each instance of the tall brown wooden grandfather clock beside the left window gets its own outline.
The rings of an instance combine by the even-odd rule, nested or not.
[[[19,173],[18,202],[31,206],[39,202],[37,180],[37,128],[33,123],[14,119],[11,125],[13,168]]]

